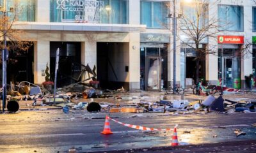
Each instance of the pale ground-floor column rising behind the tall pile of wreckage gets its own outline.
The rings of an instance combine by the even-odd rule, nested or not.
[[[91,69],[93,69],[94,66],[97,66],[97,42],[96,41],[81,42],[81,64],[85,66],[88,64]],[[97,73],[97,70],[95,72]],[[88,76],[83,76],[82,79],[85,79],[85,78],[88,78]]]

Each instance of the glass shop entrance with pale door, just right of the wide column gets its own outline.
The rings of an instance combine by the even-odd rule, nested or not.
[[[167,87],[167,48],[163,44],[141,43],[140,88],[161,91]]]

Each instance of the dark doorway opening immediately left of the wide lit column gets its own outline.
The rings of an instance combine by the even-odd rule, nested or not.
[[[127,46],[128,43],[97,43],[97,80],[101,88],[129,90]]]

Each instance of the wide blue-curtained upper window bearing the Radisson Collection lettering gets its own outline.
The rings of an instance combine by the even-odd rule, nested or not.
[[[129,24],[128,0],[65,1],[65,5],[58,3],[58,0],[51,0],[51,22]]]

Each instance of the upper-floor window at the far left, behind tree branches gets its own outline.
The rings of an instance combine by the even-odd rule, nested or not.
[[[4,0],[0,0],[0,5],[5,7]],[[6,13],[17,21],[35,21],[35,0],[6,0]]]

